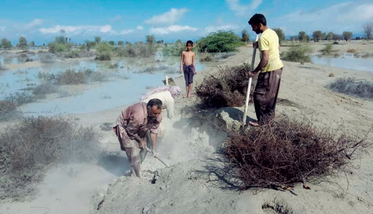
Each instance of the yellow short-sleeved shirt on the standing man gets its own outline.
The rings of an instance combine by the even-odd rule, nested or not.
[[[275,31],[269,28],[265,30],[258,41],[258,45],[260,51],[268,51],[268,63],[261,72],[274,71],[284,67],[280,60],[278,36]]]

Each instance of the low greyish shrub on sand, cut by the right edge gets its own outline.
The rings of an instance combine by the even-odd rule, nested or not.
[[[373,98],[373,82],[356,80],[355,78],[338,78],[328,84],[336,92],[345,93],[362,98]]]

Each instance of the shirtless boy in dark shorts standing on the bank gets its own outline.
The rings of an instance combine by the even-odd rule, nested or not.
[[[184,71],[185,85],[187,86],[187,97],[191,97],[193,87],[193,76],[196,71],[196,54],[192,52],[193,42],[187,41],[187,51],[181,53],[180,74]],[[185,96],[184,96],[185,97]]]

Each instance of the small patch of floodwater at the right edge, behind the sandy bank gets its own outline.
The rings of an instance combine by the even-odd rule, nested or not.
[[[332,56],[312,56],[311,60],[315,64],[328,65],[331,67],[369,71],[373,73],[373,58],[356,58],[352,54],[343,54],[340,57]]]

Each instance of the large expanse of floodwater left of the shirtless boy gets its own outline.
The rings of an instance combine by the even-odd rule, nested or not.
[[[150,87],[163,86],[165,75],[180,74],[179,57],[114,58],[111,61],[77,61],[73,63],[43,64],[41,67],[6,70],[0,74],[0,99],[25,88],[37,86],[42,81],[38,73],[57,74],[66,69],[90,68],[107,74],[108,81],[81,85],[63,85],[56,94],[20,106],[27,116],[55,116],[100,112],[140,101]],[[118,67],[109,69],[111,64]],[[205,65],[196,63],[197,70]],[[29,91],[31,93],[31,91]],[[61,95],[67,94],[67,95]]]

